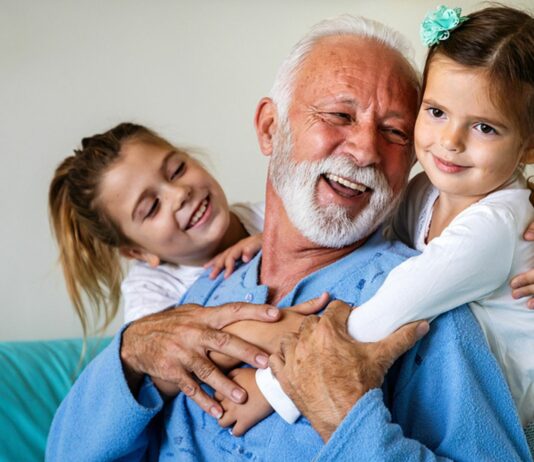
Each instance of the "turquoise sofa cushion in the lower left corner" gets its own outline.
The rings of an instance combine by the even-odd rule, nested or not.
[[[0,342],[0,461],[42,461],[59,403],[110,339]]]

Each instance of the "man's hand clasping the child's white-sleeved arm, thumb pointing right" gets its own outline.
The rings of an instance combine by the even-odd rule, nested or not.
[[[360,343],[347,332],[350,308],[328,305],[322,318],[308,316],[299,334],[289,334],[269,365],[282,388],[326,442],[354,404],[382,385],[395,360],[428,332],[418,321],[376,343]]]

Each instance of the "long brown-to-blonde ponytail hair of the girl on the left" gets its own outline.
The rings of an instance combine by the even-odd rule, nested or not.
[[[104,214],[98,197],[102,176],[119,159],[124,143],[131,141],[171,147],[142,125],[122,123],[84,138],[81,149],[58,166],[50,184],[50,221],[84,337],[92,325],[104,330],[119,308],[123,271],[118,247],[131,242]]]

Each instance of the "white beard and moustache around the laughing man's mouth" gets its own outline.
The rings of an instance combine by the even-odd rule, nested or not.
[[[395,197],[384,174],[375,167],[358,167],[348,156],[294,162],[289,129],[281,127],[279,133],[273,139],[269,177],[291,223],[311,242],[326,248],[353,244],[375,231],[398,204],[400,194]],[[316,188],[325,173],[371,188],[369,204],[355,217],[337,204],[319,206]]]

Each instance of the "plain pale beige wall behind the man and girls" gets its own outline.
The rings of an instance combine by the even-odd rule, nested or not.
[[[204,152],[231,201],[259,200],[266,162],[252,116],[291,45],[318,20],[348,12],[400,29],[421,62],[419,22],[437,4],[0,0],[0,340],[80,334],[46,196],[81,137],[124,120],[147,124]],[[468,13],[480,3],[456,5]]]

